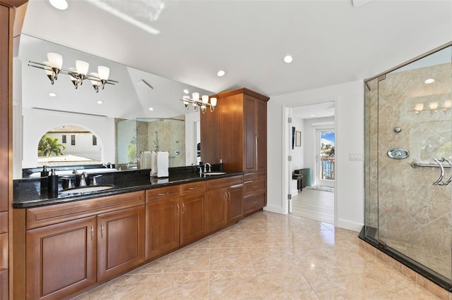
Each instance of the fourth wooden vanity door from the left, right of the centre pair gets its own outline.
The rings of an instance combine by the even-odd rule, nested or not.
[[[206,234],[204,193],[180,197],[181,244],[189,244]]]

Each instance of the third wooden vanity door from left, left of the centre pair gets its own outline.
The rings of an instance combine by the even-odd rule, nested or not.
[[[146,261],[179,247],[179,216],[179,197],[146,205]]]

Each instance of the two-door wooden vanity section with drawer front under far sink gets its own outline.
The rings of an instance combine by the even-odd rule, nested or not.
[[[206,226],[209,232],[243,218],[242,186],[242,175],[206,182]]]

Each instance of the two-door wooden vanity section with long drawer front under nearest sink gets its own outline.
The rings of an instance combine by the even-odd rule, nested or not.
[[[61,299],[143,263],[144,204],[141,191],[15,209],[15,299]]]

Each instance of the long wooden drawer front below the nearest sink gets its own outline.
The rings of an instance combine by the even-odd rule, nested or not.
[[[57,224],[68,220],[117,211],[145,204],[145,192],[131,192],[95,199],[28,208],[27,229]]]

